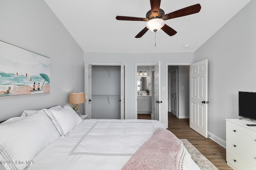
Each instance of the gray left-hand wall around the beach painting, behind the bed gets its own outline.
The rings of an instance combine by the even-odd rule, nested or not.
[[[84,52],[44,0],[0,0],[0,40],[50,57],[51,64],[50,94],[1,97],[0,121],[64,106],[70,92],[84,91]]]

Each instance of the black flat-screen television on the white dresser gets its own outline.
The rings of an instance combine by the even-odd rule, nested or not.
[[[256,120],[256,92],[238,92],[240,119]]]

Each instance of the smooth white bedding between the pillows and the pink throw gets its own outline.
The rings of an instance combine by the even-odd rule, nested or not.
[[[154,120],[87,119],[40,150],[27,169],[120,170],[158,127],[165,128]],[[190,169],[200,170],[193,160]]]

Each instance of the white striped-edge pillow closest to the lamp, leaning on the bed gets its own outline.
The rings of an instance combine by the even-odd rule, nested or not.
[[[65,106],[59,110],[43,110],[52,119],[52,122],[62,136],[66,136],[75,125],[83,121],[70,106]]]

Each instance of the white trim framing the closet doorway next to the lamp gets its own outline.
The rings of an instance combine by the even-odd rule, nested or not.
[[[127,119],[127,63],[86,63],[84,64],[90,64],[94,66],[121,66],[124,65],[124,119]],[[85,74],[86,68],[84,67],[84,74]],[[84,92],[86,91],[85,87],[86,80],[84,79]],[[86,111],[86,104],[84,105],[84,111]]]

